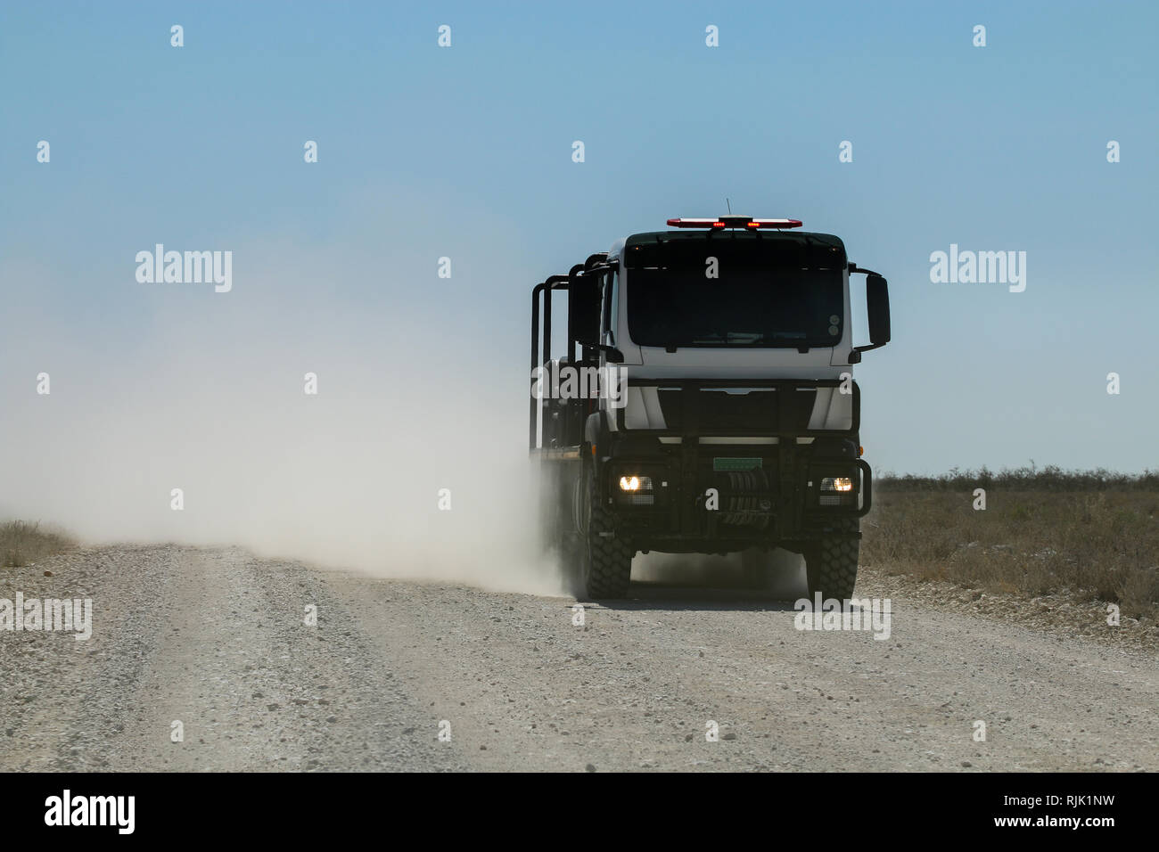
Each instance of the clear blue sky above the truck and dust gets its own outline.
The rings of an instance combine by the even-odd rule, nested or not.
[[[894,342],[857,372],[876,468],[1156,467],[1157,24],[1142,2],[6,3],[7,428],[35,425],[44,364],[59,394],[161,350],[297,347],[455,372],[520,446],[534,281],[728,196],[889,278]],[[156,242],[233,250],[233,292],[138,284]],[[1026,291],[931,283],[950,243],[1027,252]]]

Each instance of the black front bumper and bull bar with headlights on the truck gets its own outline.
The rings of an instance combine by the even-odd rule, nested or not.
[[[869,511],[873,475],[860,458],[855,383],[852,422],[844,430],[802,428],[811,398],[800,391],[837,386],[836,379],[663,384],[680,392],[679,428],[617,428],[597,442],[597,483],[618,536],[640,549],[727,553],[773,545],[803,549],[839,531],[859,534],[847,532],[848,520]],[[699,392],[722,385],[777,392],[763,428],[722,434],[721,418],[705,416],[701,406],[712,398]],[[618,416],[622,422],[622,410]]]

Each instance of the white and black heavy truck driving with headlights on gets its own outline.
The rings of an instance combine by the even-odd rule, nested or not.
[[[775,548],[803,556],[810,598],[848,599],[873,496],[853,366],[890,340],[888,283],[797,219],[668,226],[532,290],[540,534],[589,599],[625,597],[637,553],[739,553],[758,575]]]

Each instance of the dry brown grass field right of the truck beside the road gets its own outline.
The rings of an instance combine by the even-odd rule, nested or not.
[[[938,482],[939,480],[934,480]],[[1159,493],[1149,490],[875,489],[863,565],[985,591],[1118,604],[1159,616]]]

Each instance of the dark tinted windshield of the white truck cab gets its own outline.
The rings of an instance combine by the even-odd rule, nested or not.
[[[643,347],[832,347],[845,252],[799,235],[629,246],[628,333]]]

